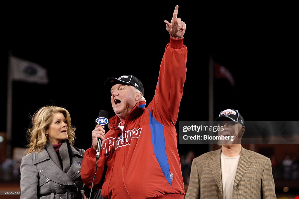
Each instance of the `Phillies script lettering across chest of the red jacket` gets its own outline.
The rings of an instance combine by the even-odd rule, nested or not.
[[[108,157],[110,155],[110,152],[115,150],[118,147],[130,145],[132,139],[139,138],[141,134],[141,129],[130,129],[125,131],[122,135],[120,135],[118,138],[109,137],[106,138],[103,145],[103,152]]]

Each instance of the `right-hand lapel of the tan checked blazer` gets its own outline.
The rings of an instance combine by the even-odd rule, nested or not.
[[[234,187],[238,184],[238,182],[240,181],[240,179],[242,178],[242,176],[248,169],[249,165],[251,164],[252,161],[248,159],[250,156],[251,155],[248,152],[248,150],[244,149],[241,146],[241,155],[240,155],[238,168],[237,168],[237,172],[236,172],[236,177],[235,177],[235,181],[234,181]]]

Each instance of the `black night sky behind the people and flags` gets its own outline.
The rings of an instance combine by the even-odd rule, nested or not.
[[[69,110],[77,127],[75,146],[91,146],[91,131],[100,110],[114,112],[103,92],[109,77],[132,74],[151,101],[169,33],[164,20],[172,18],[168,5],[73,5],[45,11],[15,10],[6,20],[1,47],[1,122],[6,130],[8,51],[48,69],[49,84],[13,83],[12,146],[27,144],[29,114],[44,105]],[[208,60],[231,71],[236,85],[214,83],[214,115],[238,109],[245,121],[298,121],[295,25],[292,6],[266,9],[247,5],[178,3],[178,17],[187,24],[187,79],[178,121],[208,121]],[[285,13],[285,11],[288,11]],[[284,13],[283,13],[284,12]],[[296,38],[297,39],[297,38]],[[177,123],[178,124],[178,123]],[[202,146],[178,145],[179,152]],[[205,147],[205,146],[204,146]]]

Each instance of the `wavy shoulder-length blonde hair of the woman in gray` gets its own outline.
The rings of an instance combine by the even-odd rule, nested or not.
[[[39,153],[45,147],[47,142],[45,132],[48,130],[51,121],[53,120],[54,113],[62,113],[64,115],[68,126],[68,141],[71,146],[74,145],[76,128],[71,126],[71,116],[68,110],[62,107],[44,106],[37,110],[31,118],[31,125],[27,130],[29,144],[27,145],[28,151],[26,154],[30,152]]]

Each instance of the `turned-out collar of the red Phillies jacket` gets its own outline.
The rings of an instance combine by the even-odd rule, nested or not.
[[[126,122],[128,123],[129,121],[132,121],[133,119],[137,118],[139,115],[142,114],[143,110],[145,109],[145,101],[139,101],[135,105],[135,107],[131,110],[129,115],[126,117]],[[112,118],[109,120],[109,129],[117,129],[118,124],[120,123],[120,119],[118,118],[117,115],[114,115]]]

